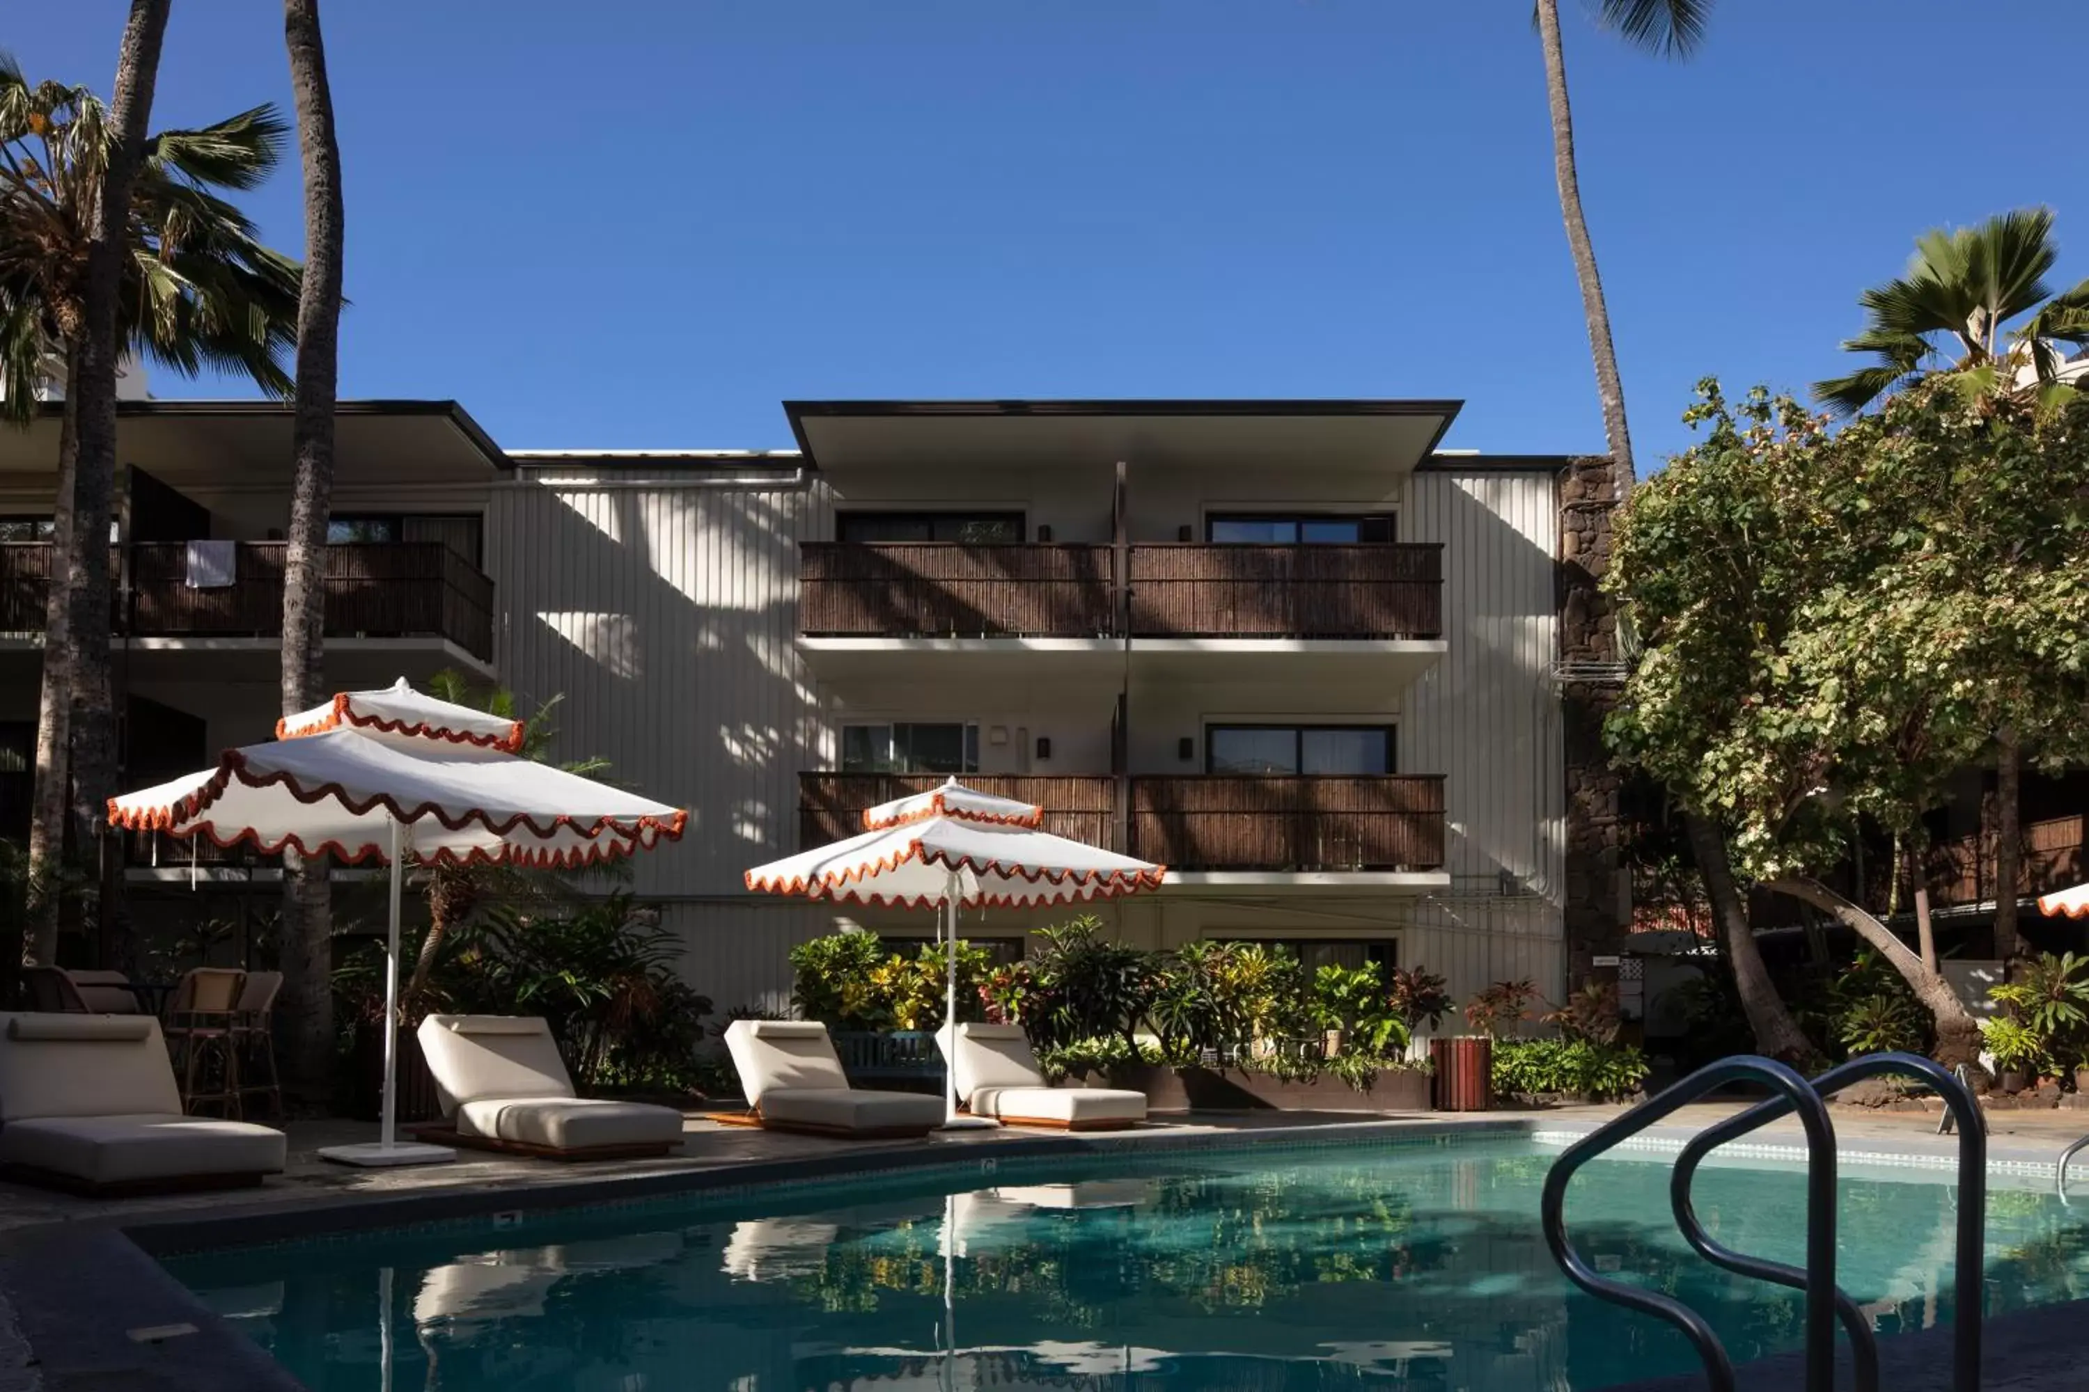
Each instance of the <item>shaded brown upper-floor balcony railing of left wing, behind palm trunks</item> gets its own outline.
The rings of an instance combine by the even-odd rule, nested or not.
[[[190,589],[184,543],[138,543],[130,547],[130,599],[119,595],[113,605],[115,626],[146,637],[276,637],[286,551],[280,541],[242,541],[232,584]],[[435,637],[474,657],[493,655],[493,580],[443,543],[328,547],[322,584],[326,637]],[[48,589],[46,543],[0,545],[0,632],[42,632]]]

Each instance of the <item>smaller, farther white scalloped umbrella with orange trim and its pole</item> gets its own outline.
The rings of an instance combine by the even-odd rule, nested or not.
[[[1111,899],[1159,889],[1166,866],[1038,831],[1044,810],[950,778],[940,789],[879,803],[861,837],[748,870],[748,889],[850,904],[940,908],[948,981],[944,1018],[957,1018],[957,910]],[[957,1114],[957,1069],[946,1066],[944,1127],[990,1127]]]

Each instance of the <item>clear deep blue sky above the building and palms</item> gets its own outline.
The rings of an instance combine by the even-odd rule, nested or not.
[[[125,8],[42,6],[0,46],[107,90]],[[2089,52],[2089,6],[1978,8],[1726,0],[1688,65],[1567,17],[1642,470],[1705,374],[1840,371],[1857,290],[1924,227],[2043,202],[2089,275],[2081,121],[2022,61]],[[155,125],[288,106],[278,13],[175,0]],[[1602,445],[1529,0],[326,25],[349,397],[455,397],[508,447],[783,447],[785,397],[1462,397],[1446,445]],[[251,207],[303,246],[295,157]]]

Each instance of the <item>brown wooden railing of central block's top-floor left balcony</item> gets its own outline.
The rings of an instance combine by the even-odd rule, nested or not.
[[[1093,639],[1113,630],[1109,547],[806,543],[798,624],[821,637]]]

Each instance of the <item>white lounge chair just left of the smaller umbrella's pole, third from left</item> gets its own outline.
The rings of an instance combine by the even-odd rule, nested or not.
[[[813,1021],[733,1021],[725,1031],[754,1119],[769,1131],[888,1137],[942,1125],[942,1098],[850,1087],[827,1027]]]

